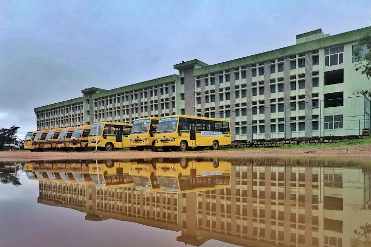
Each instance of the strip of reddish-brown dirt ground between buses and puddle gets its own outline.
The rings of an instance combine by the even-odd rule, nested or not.
[[[326,147],[325,145],[308,149],[226,149],[203,150],[187,152],[151,152],[151,151],[98,151],[98,152],[30,152],[30,151],[0,151],[1,161],[31,161],[31,160],[85,160],[85,159],[150,159],[177,157],[338,157],[340,159],[356,159],[371,161],[371,144]]]

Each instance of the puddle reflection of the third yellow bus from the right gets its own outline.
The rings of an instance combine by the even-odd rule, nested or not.
[[[89,164],[89,173],[95,186],[108,188],[133,186],[130,168],[131,164],[128,162],[98,161],[97,164],[95,162]]]

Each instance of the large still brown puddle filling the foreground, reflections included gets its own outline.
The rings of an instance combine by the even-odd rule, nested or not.
[[[371,162],[3,162],[0,182],[0,246],[371,246]]]

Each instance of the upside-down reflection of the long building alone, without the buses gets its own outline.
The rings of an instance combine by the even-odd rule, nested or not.
[[[181,230],[177,241],[195,246],[210,239],[240,246],[362,246],[354,230],[371,222],[366,166],[279,159],[238,164],[225,189],[154,193],[41,180],[38,201],[84,211],[88,220]]]

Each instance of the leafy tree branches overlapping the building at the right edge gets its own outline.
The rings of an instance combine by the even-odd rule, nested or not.
[[[369,80],[371,78],[371,34],[365,34],[358,40],[358,46],[353,50],[353,55],[358,63],[356,71],[360,71]],[[358,94],[371,97],[371,89],[358,89]]]

